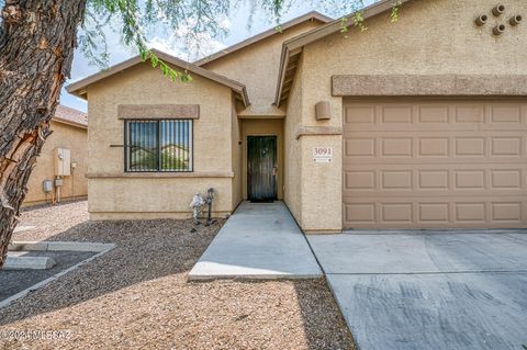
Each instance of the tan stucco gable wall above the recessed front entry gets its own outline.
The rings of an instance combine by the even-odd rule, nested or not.
[[[283,115],[272,105],[280,66],[282,43],[321,25],[309,21],[203,66],[214,72],[245,83],[250,106],[240,115]]]

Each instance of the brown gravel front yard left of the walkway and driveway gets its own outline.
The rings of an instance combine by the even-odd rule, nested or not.
[[[86,210],[23,213],[37,227],[15,240],[116,248],[0,309],[0,349],[354,349],[325,280],[188,283],[223,222],[192,233],[191,221],[89,222]]]

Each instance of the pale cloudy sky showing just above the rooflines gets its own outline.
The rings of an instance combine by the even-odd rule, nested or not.
[[[300,16],[309,11],[318,10],[319,8],[314,8],[310,1],[299,1],[296,5],[292,7],[288,12],[282,13],[282,22],[287,22],[291,19]],[[323,12],[323,11],[321,11]],[[240,7],[235,11],[232,11],[229,14],[228,20],[225,23],[225,27],[227,29],[227,35],[223,38],[215,39],[215,38],[204,38],[203,41],[206,43],[206,46],[210,48],[208,54],[213,54],[218,52],[225,47],[234,45],[247,37],[267,31],[269,29],[274,27],[274,23],[265,16],[265,14],[259,13],[258,11],[255,13],[250,30],[248,29],[248,16],[250,10],[249,7]],[[109,23],[112,25],[112,23]],[[108,43],[108,50],[110,54],[110,66],[119,64],[127,58],[131,58],[136,55],[136,53],[130,48],[124,46],[121,43],[120,35],[111,31],[110,29],[104,31],[106,33],[106,43]],[[184,29],[181,29],[182,34],[184,35]],[[179,33],[181,34],[181,33]],[[148,38],[148,46],[155,47],[160,50],[167,52],[168,54],[172,54],[178,56],[179,58],[189,59],[188,50],[184,47],[181,47],[180,43],[177,42],[176,38],[170,37],[168,35],[159,35]],[[197,53],[191,53],[192,56],[195,56]],[[187,56],[187,57],[186,57]],[[198,57],[192,57],[198,58]],[[74,54],[74,65],[71,68],[71,78],[66,81],[65,86],[68,83],[93,75],[100,71],[100,68],[89,64],[89,60],[83,56],[83,54],[77,49]],[[63,88],[60,94],[60,103],[80,111],[87,111],[87,102],[82,99],[74,97],[66,92],[65,88]]]

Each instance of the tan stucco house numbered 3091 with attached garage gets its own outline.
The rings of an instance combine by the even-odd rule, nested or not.
[[[188,84],[135,57],[69,86],[91,217],[189,217],[212,187],[215,215],[281,199],[307,233],[526,227],[526,2],[401,2],[395,23],[392,0],[365,9],[367,31],[310,13],[195,64],[157,52]],[[189,162],[159,166],[170,138]],[[154,170],[130,167],[137,147]]]

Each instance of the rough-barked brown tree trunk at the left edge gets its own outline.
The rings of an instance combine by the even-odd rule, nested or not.
[[[0,26],[0,268],[69,78],[86,0],[5,0]]]

